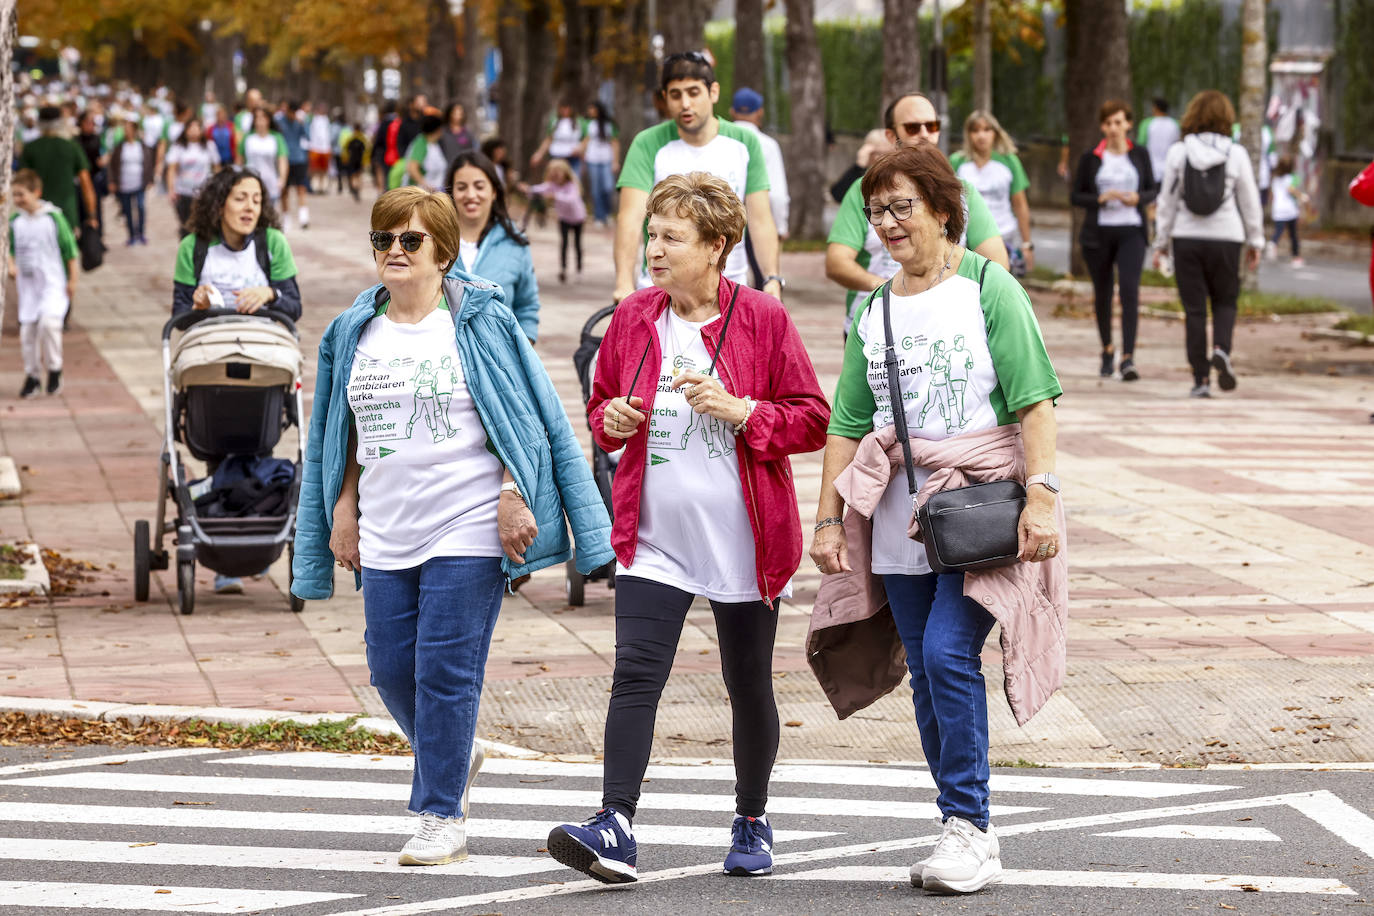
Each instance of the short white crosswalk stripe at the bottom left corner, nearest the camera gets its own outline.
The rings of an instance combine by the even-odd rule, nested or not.
[[[170,893],[158,893],[170,891]],[[0,882],[0,911],[21,912],[63,906],[153,912],[243,913],[326,904],[363,894],[300,890],[242,890],[236,887],[181,887],[179,884],[71,884],[66,882]]]

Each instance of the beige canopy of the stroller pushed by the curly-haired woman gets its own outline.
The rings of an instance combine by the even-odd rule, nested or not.
[[[206,319],[172,347],[172,386],[179,391],[195,385],[286,386],[300,375],[300,343],[269,319]]]

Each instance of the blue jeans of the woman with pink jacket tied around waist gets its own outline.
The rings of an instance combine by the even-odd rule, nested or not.
[[[941,820],[988,828],[988,694],[982,644],[992,614],[963,595],[963,574],[883,575],[907,648],[921,750],[940,790]]]

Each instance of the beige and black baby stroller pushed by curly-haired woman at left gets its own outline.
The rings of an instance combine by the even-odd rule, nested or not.
[[[181,336],[172,343],[172,332]],[[158,471],[158,518],[133,525],[133,596],[148,600],[148,578],[170,558],[162,538],[176,536],[177,603],[195,610],[195,564],[221,575],[256,575],[294,552],[295,504],[301,489],[297,445],[284,500],[271,514],[210,518],[196,512],[201,486],[187,479],[177,442],[212,468],[229,456],[271,456],[282,433],[301,423],[301,346],[295,324],[264,309],[239,314],[206,309],[172,316],[162,325],[162,393],[166,439]],[[280,497],[280,492],[275,494]],[[168,518],[168,501],[172,518]],[[291,610],[305,602],[291,596]]]

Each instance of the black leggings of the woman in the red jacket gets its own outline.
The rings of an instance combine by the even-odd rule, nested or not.
[[[606,713],[602,806],[635,816],[654,743],[658,698],[673,667],[692,595],[632,575],[616,577],[616,676]],[[712,602],[720,672],[734,714],[735,810],[758,817],[778,758],[772,650],[778,612],[763,602]]]

